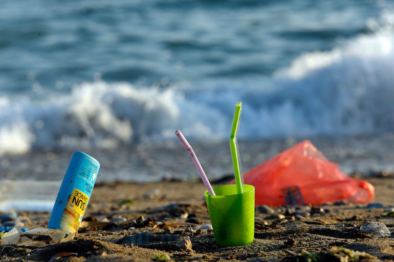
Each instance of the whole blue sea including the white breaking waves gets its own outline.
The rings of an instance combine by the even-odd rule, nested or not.
[[[0,3],[0,154],[394,131],[394,5]]]

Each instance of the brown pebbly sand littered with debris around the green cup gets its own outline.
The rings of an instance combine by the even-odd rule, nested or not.
[[[386,210],[392,206],[394,178],[368,177],[367,181],[376,186],[375,202],[381,204],[377,208],[341,202],[320,207],[299,206],[294,209],[256,207],[255,240],[250,245],[240,247],[219,247],[215,244],[212,230],[206,229],[210,221],[203,202],[204,185],[200,182],[103,182],[96,185],[74,240],[40,248],[2,245],[0,259],[24,262],[160,259],[391,261],[394,259],[392,237],[374,237],[374,233],[366,233],[363,228],[368,222],[381,222],[391,232],[394,231],[392,217],[387,215]],[[18,214],[19,218],[25,218],[25,226],[29,228],[45,227],[49,215]],[[120,243],[125,236],[144,232],[164,234],[167,240],[173,236],[186,236],[189,241],[181,237],[176,240],[178,242],[148,241],[150,244],[144,244],[142,238],[138,245]],[[367,254],[348,254],[349,258],[343,248]],[[312,256],[319,257],[320,260],[308,260]],[[337,260],[334,259],[336,256],[339,257]],[[323,257],[329,260],[324,260]],[[345,258],[348,260],[338,260]]]

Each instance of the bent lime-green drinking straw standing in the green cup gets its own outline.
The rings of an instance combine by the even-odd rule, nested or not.
[[[244,185],[243,185],[243,179],[242,179],[242,170],[240,168],[240,161],[239,161],[239,151],[237,147],[237,132],[238,132],[238,124],[239,124],[239,119],[240,119],[240,114],[241,114],[241,107],[242,103],[237,102],[235,105],[235,111],[234,111],[234,118],[233,118],[233,124],[231,127],[231,134],[230,134],[230,150],[231,150],[231,158],[233,160],[233,167],[234,167],[234,177],[235,177],[235,183],[237,186],[237,192],[238,194],[244,193]]]

